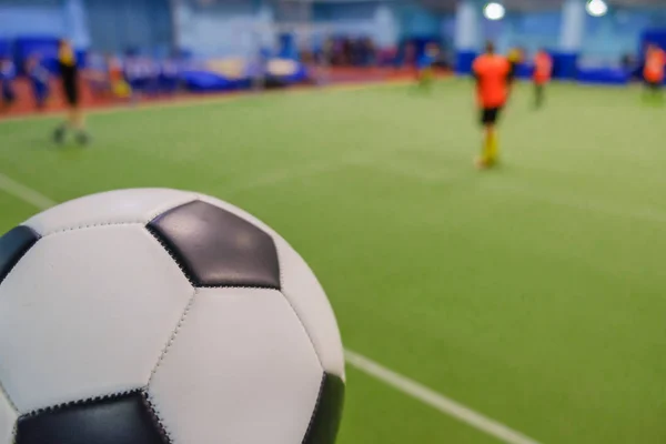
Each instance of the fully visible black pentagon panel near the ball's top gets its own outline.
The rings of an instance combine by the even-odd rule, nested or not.
[[[148,230],[195,286],[280,289],[273,239],[226,210],[201,201],[186,203],[155,218]]]

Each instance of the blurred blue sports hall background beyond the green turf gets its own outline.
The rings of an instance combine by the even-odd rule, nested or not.
[[[6,99],[43,105],[40,81],[42,95],[58,95],[50,78],[62,38],[74,43],[85,69],[88,101],[408,77],[432,43],[441,50],[442,72],[468,74],[486,39],[503,52],[521,49],[522,77],[531,75],[532,54],[545,48],[556,79],[627,84],[640,72],[647,42],[666,47],[666,4],[0,0]]]

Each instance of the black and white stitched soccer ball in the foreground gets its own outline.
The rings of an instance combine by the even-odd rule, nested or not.
[[[0,444],[331,444],[344,355],[274,231],[124,190],[0,238]]]

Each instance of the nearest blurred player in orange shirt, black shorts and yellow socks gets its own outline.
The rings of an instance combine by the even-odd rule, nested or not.
[[[476,160],[478,168],[495,165],[498,155],[496,123],[509,93],[515,73],[508,60],[495,53],[495,46],[486,43],[485,53],[474,60],[472,67],[476,79],[476,94],[484,128],[483,150]]]

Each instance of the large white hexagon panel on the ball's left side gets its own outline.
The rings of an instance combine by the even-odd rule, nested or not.
[[[0,381],[20,413],[144,386],[193,292],[141,225],[43,238],[0,285]]]

